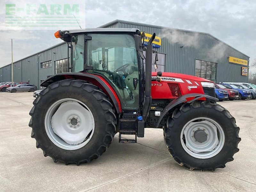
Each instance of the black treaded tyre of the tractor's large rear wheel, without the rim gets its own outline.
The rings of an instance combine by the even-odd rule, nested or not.
[[[48,122],[46,117],[49,114],[48,111],[55,105],[54,103],[58,103],[61,100],[67,103],[65,100],[69,98],[70,100],[79,101],[82,107],[84,107],[82,104],[88,107],[84,108],[93,115],[94,129],[86,137],[88,140],[90,139],[88,142],[85,139],[77,145],[73,145],[73,143],[72,145],[68,144],[68,142],[59,137],[64,146],[61,147],[54,140],[54,137],[58,139],[54,135],[55,133],[52,131],[49,134],[48,125],[49,123],[51,125],[52,120],[50,119],[50,122]],[[66,165],[69,163],[75,163],[76,165],[89,163],[107,150],[116,133],[116,115],[112,104],[107,99],[105,93],[100,91],[97,86],[88,84],[85,81],[68,79],[55,82],[40,92],[40,97],[36,98],[33,104],[34,107],[29,113],[31,116],[29,126],[32,127],[31,137],[36,139],[36,147],[43,150],[44,156],[52,157],[55,163],[57,161],[64,162]],[[74,111],[73,108],[70,109],[70,111],[72,110]],[[80,127],[85,127],[82,126],[82,118],[80,121]],[[62,126],[62,123],[66,122],[60,120],[60,126]],[[53,129],[53,127],[51,128]],[[86,142],[85,145],[80,145],[84,142]],[[79,148],[78,145],[82,147]]]

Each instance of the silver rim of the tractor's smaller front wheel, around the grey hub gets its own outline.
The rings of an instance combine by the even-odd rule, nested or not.
[[[196,141],[194,137],[196,130],[204,131],[207,134],[207,140],[202,143]],[[189,155],[199,159],[207,159],[221,151],[225,142],[225,134],[220,124],[213,119],[199,117],[185,124],[180,134],[180,141]]]

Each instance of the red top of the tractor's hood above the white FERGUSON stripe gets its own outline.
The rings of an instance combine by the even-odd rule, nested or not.
[[[157,72],[152,72],[152,79],[156,78],[156,73]],[[165,77],[169,77],[169,78],[177,78],[177,79],[182,79],[183,81],[185,80],[192,80],[192,81],[199,81],[199,82],[211,82],[214,83],[208,79],[204,79],[201,77],[196,77],[196,76],[192,76],[192,75],[185,75],[185,74],[180,74],[180,73],[169,73],[169,72],[163,72],[162,73],[162,81],[165,80]],[[168,78],[166,78],[168,79]]]

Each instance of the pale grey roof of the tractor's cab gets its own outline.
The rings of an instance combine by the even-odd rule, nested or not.
[[[87,28],[87,29],[73,29],[68,30],[68,33],[88,33],[88,32],[130,32],[135,33],[140,31],[138,28]]]

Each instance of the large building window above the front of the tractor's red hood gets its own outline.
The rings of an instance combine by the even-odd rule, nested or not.
[[[195,76],[216,82],[217,63],[196,60]]]

